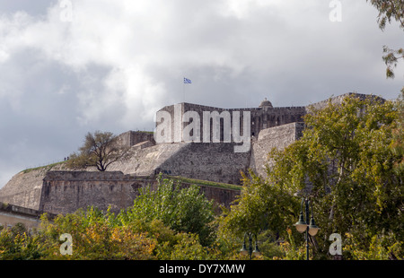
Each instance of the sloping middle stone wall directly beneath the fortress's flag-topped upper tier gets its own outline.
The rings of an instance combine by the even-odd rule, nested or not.
[[[248,169],[250,152],[234,152],[234,143],[164,143],[136,149],[109,170],[136,176],[160,172],[172,176],[240,184],[240,170]]]

